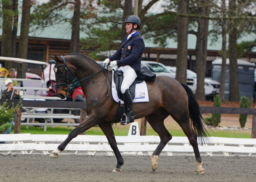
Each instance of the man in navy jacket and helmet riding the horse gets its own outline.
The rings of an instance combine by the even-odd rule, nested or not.
[[[124,106],[127,114],[127,124],[134,122],[132,114],[132,96],[129,87],[137,78],[136,71],[141,69],[141,58],[144,51],[144,40],[140,36],[140,18],[135,15],[129,15],[125,18],[126,36],[121,47],[112,56],[104,61],[104,64],[110,62],[110,66],[118,66],[119,70],[124,73],[124,80],[121,85],[121,92],[124,96]],[[125,121],[120,121],[125,124]]]

